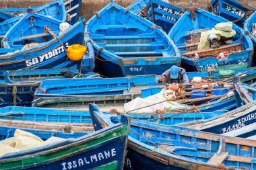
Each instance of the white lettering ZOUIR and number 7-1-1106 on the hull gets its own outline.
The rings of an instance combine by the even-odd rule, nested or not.
[[[227,128],[222,128],[222,133],[226,133],[232,130],[236,130],[238,128],[242,128],[243,126],[245,126],[245,122],[249,120],[255,120],[255,119],[256,119],[256,113],[244,116],[243,118],[238,119],[235,124],[228,126]]]

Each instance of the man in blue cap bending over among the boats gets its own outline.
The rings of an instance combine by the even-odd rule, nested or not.
[[[167,71],[164,71],[162,75],[156,76],[156,83],[164,82],[166,84],[171,83],[189,83],[189,78],[185,69],[177,67],[176,65],[170,67]]]

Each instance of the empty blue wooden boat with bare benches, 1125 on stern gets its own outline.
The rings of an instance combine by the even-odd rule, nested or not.
[[[181,64],[181,53],[165,32],[115,3],[96,13],[86,32],[101,74],[107,77],[160,75]]]

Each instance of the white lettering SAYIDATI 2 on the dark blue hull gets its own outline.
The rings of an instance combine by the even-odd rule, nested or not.
[[[69,47],[69,43],[66,42],[65,44],[65,47]],[[63,45],[51,50],[50,52],[46,52],[40,56],[37,56],[35,58],[32,58],[32,59],[29,59],[29,60],[26,60],[26,65],[27,67],[30,67],[32,65],[36,65],[40,62],[44,62],[45,60],[49,60],[49,58],[52,58],[54,56],[57,56],[63,52],[65,52],[65,47]]]

